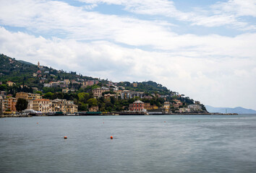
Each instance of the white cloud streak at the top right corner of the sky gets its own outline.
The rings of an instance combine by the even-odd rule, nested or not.
[[[229,0],[218,2],[205,9],[194,8],[192,12],[182,12],[176,9],[173,1],[106,1],[106,0],[79,0],[89,4],[115,4],[124,6],[124,10],[135,14],[161,15],[180,21],[190,22],[191,25],[204,27],[220,27],[231,25],[239,30],[256,30],[254,25],[239,19],[242,16],[256,17],[256,2],[254,0]]]

